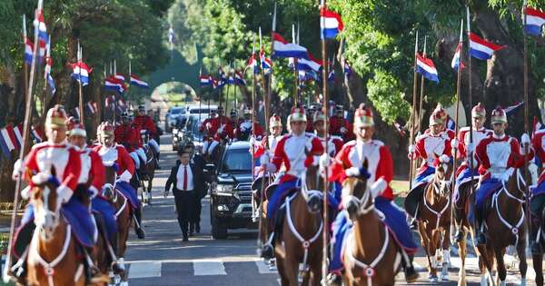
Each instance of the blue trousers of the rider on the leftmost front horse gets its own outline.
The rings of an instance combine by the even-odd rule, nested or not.
[[[85,247],[94,245],[94,238],[98,235],[96,224],[91,216],[91,212],[82,202],[79,202],[74,196],[70,201],[64,203],[61,208],[61,214],[64,221],[72,227],[72,233],[75,239]],[[34,205],[26,205],[25,214],[21,220],[19,229],[23,229],[27,223],[34,222]]]

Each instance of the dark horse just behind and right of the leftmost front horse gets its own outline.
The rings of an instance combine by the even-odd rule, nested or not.
[[[119,267],[124,270],[124,252],[127,249],[127,240],[129,239],[129,230],[131,228],[132,214],[131,214],[131,203],[124,195],[115,190],[115,169],[114,166],[105,166],[105,184],[103,188],[104,197],[114,204],[115,208],[115,219],[117,222],[117,247],[115,255],[119,261]],[[114,281],[122,280],[122,283],[125,285],[126,275],[120,277],[119,274],[115,274]]]

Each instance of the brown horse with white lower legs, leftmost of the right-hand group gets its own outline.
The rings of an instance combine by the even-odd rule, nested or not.
[[[448,157],[442,158],[418,204],[418,230],[428,258],[428,279],[431,282],[438,281],[436,268],[441,264],[441,281],[449,280],[452,173]]]

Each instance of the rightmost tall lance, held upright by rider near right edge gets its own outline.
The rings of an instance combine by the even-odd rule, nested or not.
[[[522,5],[522,23],[523,26],[526,26],[526,7],[527,0],[524,0]],[[530,123],[529,123],[529,107],[530,102],[528,101],[528,37],[526,33],[523,33],[522,37],[524,38],[524,132],[530,134]],[[524,144],[524,180],[528,178],[528,153],[529,146]],[[524,192],[526,193],[526,222],[528,223],[528,232],[531,235],[531,214],[530,214],[530,193],[528,189],[529,183],[524,184]]]

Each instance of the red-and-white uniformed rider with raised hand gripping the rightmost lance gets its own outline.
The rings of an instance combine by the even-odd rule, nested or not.
[[[475,192],[475,230],[477,231],[477,243],[485,244],[486,236],[483,232],[483,221],[487,217],[484,213],[484,203],[487,198],[507,182],[515,172],[514,169],[524,166],[530,162],[534,152],[524,146],[530,145],[528,134],[522,134],[519,141],[505,133],[507,129],[507,114],[501,107],[496,107],[490,115],[493,133],[491,136],[481,140],[475,149],[475,157],[480,163],[479,174],[481,174],[480,185]],[[524,153],[526,154],[526,160]]]

